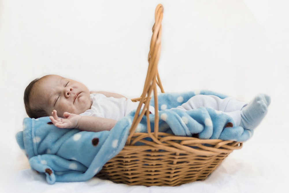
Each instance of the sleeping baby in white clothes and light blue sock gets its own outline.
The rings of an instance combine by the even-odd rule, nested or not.
[[[116,93],[89,91],[75,80],[47,75],[26,87],[24,104],[31,118],[52,115],[49,118],[58,128],[98,132],[110,130],[119,119],[136,109],[139,102]],[[177,108],[184,111],[201,106],[216,109],[231,116],[237,125],[254,129],[266,115],[269,104],[270,97],[265,94],[257,95],[249,104],[231,97],[196,95]]]

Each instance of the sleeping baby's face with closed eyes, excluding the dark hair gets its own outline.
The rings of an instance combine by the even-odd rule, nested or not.
[[[58,75],[40,79],[32,101],[49,115],[55,109],[59,117],[63,117],[66,111],[80,114],[91,107],[90,92],[84,84]]]

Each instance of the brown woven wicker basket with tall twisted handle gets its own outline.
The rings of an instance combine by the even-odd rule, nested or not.
[[[180,137],[158,132],[158,95],[157,85],[164,92],[158,75],[158,60],[161,48],[163,6],[155,10],[149,67],[136,111],[130,134],[123,150],[108,161],[97,174],[101,179],[129,185],[167,185],[176,186],[196,180],[204,180],[235,149],[242,148],[242,143],[220,139],[199,139]],[[151,132],[149,124],[149,101],[153,94],[155,101],[155,128]],[[144,108],[140,112],[141,104]],[[143,116],[147,117],[148,133],[135,133]],[[148,141],[147,138],[152,140]],[[144,145],[135,146],[136,142]]]

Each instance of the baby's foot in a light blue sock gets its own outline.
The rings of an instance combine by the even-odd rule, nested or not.
[[[240,126],[245,129],[256,128],[265,117],[270,102],[270,96],[257,95],[247,106],[242,108]]]

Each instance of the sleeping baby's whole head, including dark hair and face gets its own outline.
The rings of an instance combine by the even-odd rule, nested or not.
[[[30,82],[24,91],[25,110],[29,117],[51,115],[55,109],[59,117],[64,112],[80,114],[90,109],[88,88],[75,80],[47,75]]]

